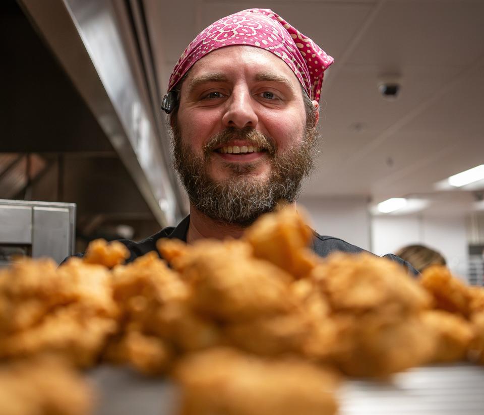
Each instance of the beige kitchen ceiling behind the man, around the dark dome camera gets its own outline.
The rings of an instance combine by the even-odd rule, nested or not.
[[[201,30],[252,7],[273,9],[335,58],[323,85],[317,171],[305,197],[432,198],[436,182],[484,163],[484,1],[143,5],[161,96],[179,55]],[[378,90],[389,74],[401,83],[393,101]],[[462,192],[455,199],[468,199]]]

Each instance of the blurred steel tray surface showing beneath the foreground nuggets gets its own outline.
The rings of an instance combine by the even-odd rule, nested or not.
[[[88,378],[98,392],[95,415],[177,413],[170,381],[112,367],[95,369]],[[339,415],[482,415],[482,386],[484,368],[470,364],[415,368],[388,383],[348,380],[339,391]]]

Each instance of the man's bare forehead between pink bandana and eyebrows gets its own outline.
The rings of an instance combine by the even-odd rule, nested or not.
[[[256,77],[260,73],[284,77],[294,87],[299,85],[292,70],[268,50],[255,46],[225,46],[216,49],[197,61],[187,74],[187,80],[208,73],[224,74],[227,77]]]

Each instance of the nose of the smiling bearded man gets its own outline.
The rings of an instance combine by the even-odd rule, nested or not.
[[[224,127],[256,128],[259,122],[253,107],[253,99],[245,88],[235,88],[227,100],[227,108],[222,117]]]

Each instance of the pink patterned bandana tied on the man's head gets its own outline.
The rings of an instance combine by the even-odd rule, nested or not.
[[[203,30],[181,54],[168,91],[207,53],[234,45],[256,46],[274,53],[292,70],[308,95],[319,101],[323,73],[333,58],[270,9],[243,10]]]

